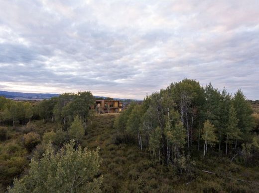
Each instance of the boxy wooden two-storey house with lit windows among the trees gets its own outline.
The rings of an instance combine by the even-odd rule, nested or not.
[[[94,109],[99,113],[117,113],[122,111],[123,104],[117,100],[96,100]]]

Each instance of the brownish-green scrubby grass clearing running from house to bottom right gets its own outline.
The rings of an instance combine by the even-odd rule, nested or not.
[[[116,116],[95,115],[81,143],[84,147],[101,148],[103,192],[259,192],[259,167],[246,168],[224,157],[196,157],[192,167],[185,166],[181,175],[173,166],[160,165],[134,144],[115,144]]]

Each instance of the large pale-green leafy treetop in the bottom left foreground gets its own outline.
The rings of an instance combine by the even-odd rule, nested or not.
[[[54,153],[49,143],[43,158],[32,160],[29,174],[14,180],[10,193],[98,193],[101,192],[102,176],[97,177],[101,164],[97,151],[81,146],[75,150],[75,143],[66,144],[60,152]]]

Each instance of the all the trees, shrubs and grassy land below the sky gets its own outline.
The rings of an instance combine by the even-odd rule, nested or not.
[[[90,91],[0,97],[0,192],[258,192],[259,104],[172,82],[115,114]]]

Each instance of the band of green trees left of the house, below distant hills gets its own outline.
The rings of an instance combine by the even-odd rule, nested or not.
[[[59,97],[44,99],[33,105],[30,102],[0,97],[0,122],[12,122],[14,126],[16,122],[24,125],[30,122],[30,119],[43,119],[45,122],[58,121],[66,128],[78,115],[86,124],[89,109],[94,101],[94,96],[90,91],[76,94],[64,93]]]

